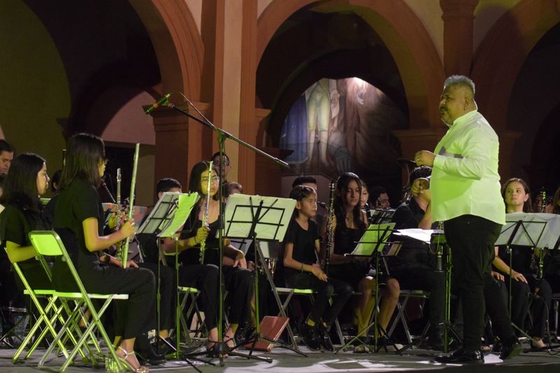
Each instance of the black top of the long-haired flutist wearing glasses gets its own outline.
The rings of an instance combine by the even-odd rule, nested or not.
[[[197,234],[197,230],[202,227],[202,220],[198,218],[198,213],[200,213],[200,208],[197,207],[190,211],[190,216],[188,217],[187,223],[185,225],[186,233],[181,234],[181,239],[186,239],[188,237],[193,237]],[[210,231],[208,232],[208,237],[206,239],[206,249],[204,251],[204,264],[219,265],[220,264],[220,252],[218,251],[218,239],[216,238],[216,233],[218,232],[218,220],[209,223]],[[200,264],[200,244],[188,248],[179,254],[179,261],[183,265],[197,265]]]

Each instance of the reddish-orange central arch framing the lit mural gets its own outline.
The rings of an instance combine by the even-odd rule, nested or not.
[[[274,0],[258,19],[257,60],[274,33],[290,15],[316,1]],[[437,102],[445,78],[442,60],[421,20],[402,0],[335,1],[353,10],[379,34],[393,55],[407,94],[411,128],[439,125]]]

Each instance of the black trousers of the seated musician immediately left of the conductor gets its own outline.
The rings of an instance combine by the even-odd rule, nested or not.
[[[430,324],[432,332],[440,334],[445,312],[445,272],[418,265],[400,265],[391,268],[391,276],[398,280],[403,289],[430,292]]]

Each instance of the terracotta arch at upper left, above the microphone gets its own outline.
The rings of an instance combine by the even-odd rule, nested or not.
[[[186,1],[130,0],[130,3],[144,23],[158,57],[161,93],[181,91],[198,100],[204,47]]]

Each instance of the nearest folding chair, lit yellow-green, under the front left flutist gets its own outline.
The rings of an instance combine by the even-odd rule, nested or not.
[[[71,280],[73,281],[73,284],[76,286],[76,288],[78,288],[79,290],[76,293],[55,291],[54,293],[55,296],[63,300],[73,300],[73,302],[76,303],[76,306],[74,307],[71,316],[69,316],[69,318],[66,320],[64,325],[62,325],[62,328],[59,330],[57,336],[55,337],[55,340],[48,347],[43,358],[41,358],[41,360],[39,361],[38,367],[43,367],[48,356],[50,356],[50,353],[52,353],[52,350],[55,348],[55,345],[57,345],[60,342],[66,330],[68,328],[72,328],[73,325],[75,325],[76,320],[78,318],[82,318],[82,320],[85,321],[87,328],[85,329],[85,332],[83,332],[83,334],[80,335],[78,342],[76,342],[76,345],[73,347],[72,351],[66,357],[64,364],[59,368],[59,372],[64,372],[66,368],[69,367],[71,363],[73,363],[73,359],[76,357],[76,353],[78,353],[78,351],[80,351],[82,347],[84,347],[88,352],[90,352],[89,356],[92,365],[97,365],[97,359],[94,357],[94,354],[91,353],[87,344],[85,343],[86,338],[88,336],[92,336],[94,330],[97,330],[99,332],[102,339],[107,345],[107,349],[109,350],[108,356],[105,356],[106,369],[112,371],[118,371],[118,372],[125,370],[126,367],[118,359],[113,344],[111,343],[111,340],[109,339],[109,336],[107,335],[105,328],[103,327],[100,321],[100,317],[102,316],[104,311],[106,311],[109,304],[111,304],[112,300],[127,300],[128,295],[87,293],[80,279],[80,276],[78,275],[78,272],[76,271],[76,268],[74,267],[73,262],[68,252],[66,251],[66,248],[64,248],[64,244],[62,244],[62,240],[60,239],[59,235],[56,232],[33,231],[29,233],[29,239],[31,241],[31,244],[33,244],[37,253],[41,255],[50,255],[55,257],[62,256],[62,262],[65,263],[65,265],[68,267],[69,273],[71,274]],[[103,306],[99,309],[99,311],[97,311],[93,307],[92,300],[94,299],[105,300]],[[86,311],[90,312],[91,315],[90,323],[87,323],[86,318],[84,316],[84,313]],[[93,344],[96,352],[99,353],[99,355],[104,356],[101,347],[97,343],[96,339],[93,339]]]

